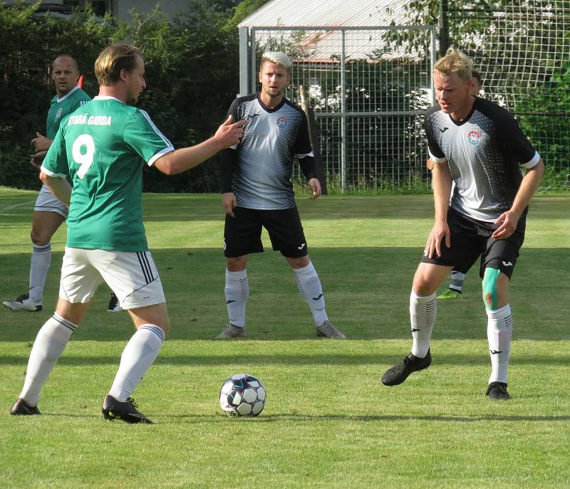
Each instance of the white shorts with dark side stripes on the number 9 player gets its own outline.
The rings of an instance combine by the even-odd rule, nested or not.
[[[123,309],[165,303],[165,293],[150,251],[68,248],[63,255],[59,296],[88,303],[106,282]]]

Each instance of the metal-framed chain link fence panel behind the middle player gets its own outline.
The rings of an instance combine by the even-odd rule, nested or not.
[[[286,51],[294,61],[286,97],[299,103],[299,87],[308,89],[329,188],[344,192],[422,184],[427,149],[421,126],[423,111],[434,102],[435,28],[330,29],[252,28],[242,93],[258,90],[264,51]],[[390,31],[417,31],[423,43],[393,51]]]

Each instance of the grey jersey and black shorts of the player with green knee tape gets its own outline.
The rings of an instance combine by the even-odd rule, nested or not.
[[[447,214],[451,248],[444,245],[441,257],[422,261],[456,265],[465,273],[482,256],[481,276],[492,265],[510,277],[524,241],[527,209],[507,239],[490,238],[498,227],[493,222],[512,207],[522,182],[519,165],[534,167],[539,153],[507,110],[482,98],[475,98],[461,121],[434,105],[427,111],[425,132],[430,158],[449,165],[454,186]]]

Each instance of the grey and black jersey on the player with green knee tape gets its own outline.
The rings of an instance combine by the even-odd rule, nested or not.
[[[425,132],[430,158],[449,164],[450,207],[480,221],[492,222],[512,207],[522,181],[519,165],[532,168],[540,159],[514,117],[482,98],[462,121],[433,106]]]

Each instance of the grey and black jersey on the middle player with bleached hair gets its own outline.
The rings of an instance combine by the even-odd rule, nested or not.
[[[270,210],[294,207],[294,158],[313,154],[305,113],[286,98],[270,109],[254,94],[234,100],[228,114],[234,120],[249,120],[232,174],[237,205]]]

